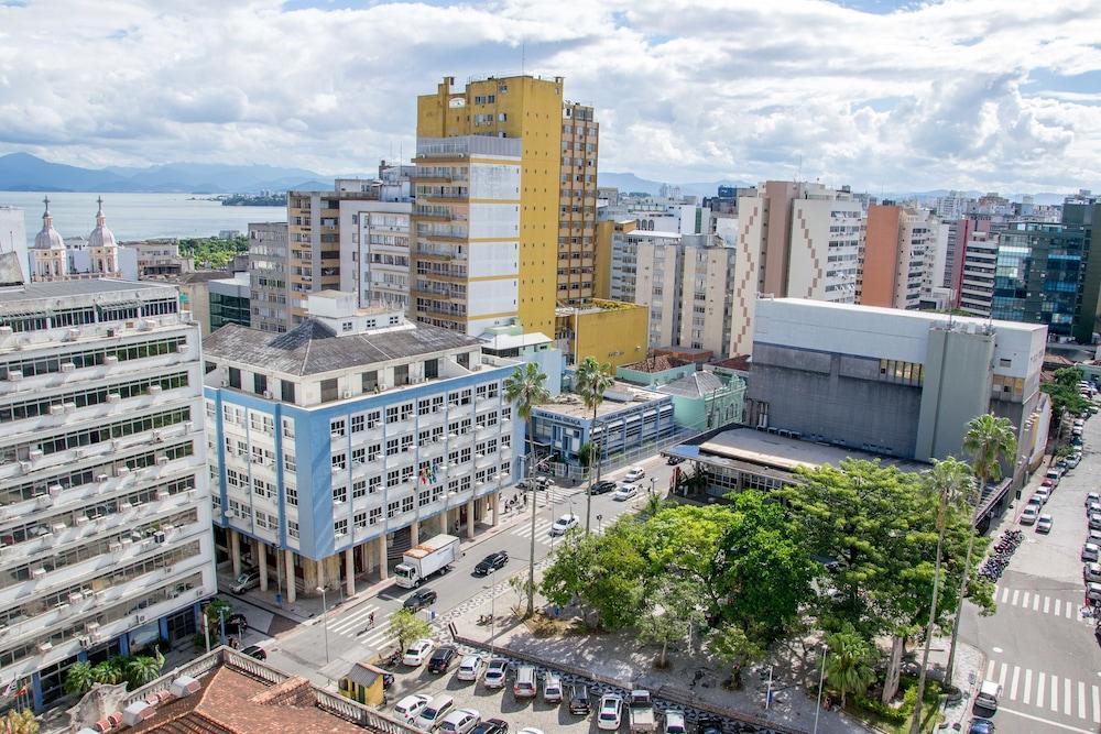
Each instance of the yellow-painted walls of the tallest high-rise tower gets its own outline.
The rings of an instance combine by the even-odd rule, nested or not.
[[[520,139],[516,314],[525,331],[541,331],[547,336],[555,332],[559,211],[565,200],[560,196],[565,155],[563,118],[562,77],[488,78],[469,81],[464,89],[456,88],[454,77],[445,77],[435,94],[417,98],[418,139],[468,135]],[[592,157],[596,158],[595,152]],[[595,163],[592,173],[595,180]],[[492,200],[493,205],[501,202],[501,199]],[[471,207],[478,204],[480,201],[477,198],[470,198]],[[417,208],[421,208],[419,199]],[[417,238],[416,213],[415,209],[412,233],[414,239]],[[479,238],[472,232],[465,242],[471,252],[483,244],[494,243],[498,241],[493,238],[489,238],[488,242],[479,242]],[[415,261],[416,258],[412,260]],[[412,265],[412,270],[411,281],[415,281],[417,277],[415,264]],[[476,276],[470,275],[469,278],[472,282]],[[436,289],[434,281],[425,284]],[[411,304],[414,304],[411,313],[415,316],[415,299],[411,299]],[[456,327],[465,326],[467,330],[475,326],[464,324],[461,320],[456,320],[454,324]]]

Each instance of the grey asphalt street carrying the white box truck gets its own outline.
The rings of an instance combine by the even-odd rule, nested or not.
[[[653,457],[636,465],[646,469],[646,478],[640,482],[644,490],[636,497],[628,502],[615,502],[611,494],[592,497],[595,530],[602,528],[621,513],[642,505],[651,478],[655,479],[654,486],[659,493],[664,495],[667,491],[673,468],[667,467],[664,459]],[[620,479],[624,473],[626,468],[611,472],[607,479]],[[505,491],[502,496],[506,500],[512,494],[513,491]],[[538,495],[535,521],[536,562],[546,559],[553,551],[555,539],[550,537],[549,528],[554,521],[573,512],[580,517],[584,527],[586,505],[584,487],[556,487],[549,495],[545,492],[539,492]],[[597,519],[598,515],[600,521]],[[514,519],[515,517],[511,513],[505,515],[502,522],[508,527],[504,530],[466,550],[450,572],[434,577],[422,587],[437,593],[436,604],[421,612],[426,618],[434,618],[437,625],[443,624],[449,613],[481,605],[491,596],[497,598],[498,614],[504,611],[505,605],[515,603],[516,596],[509,589],[508,579],[513,574],[527,572],[532,537],[530,512],[522,513],[522,519]],[[472,571],[478,561],[497,550],[509,552],[509,565],[489,577],[475,576]],[[326,684],[325,677],[318,671],[326,666],[327,659],[358,660],[368,657],[372,650],[388,653],[394,649],[396,640],[390,635],[388,620],[412,593],[413,590],[394,585],[373,599],[331,611],[325,623],[298,625],[291,632],[281,634],[277,639],[248,642],[261,642],[268,650],[269,661],[275,667],[306,675],[314,682]],[[370,622],[371,614],[374,615],[373,626]]]

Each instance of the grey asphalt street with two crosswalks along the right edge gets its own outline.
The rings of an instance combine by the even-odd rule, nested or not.
[[[1003,523],[1003,529],[1021,528],[1025,540],[998,582],[996,614],[980,617],[971,605],[964,613],[961,638],[985,654],[982,677],[1002,686],[993,716],[999,734],[1088,734],[1101,725],[1101,650],[1092,620],[1082,613],[1079,559],[1086,493],[1101,484],[1101,418],[1086,423],[1084,445],[1082,462],[1043,510],[1054,518],[1050,535],[1016,522],[1040,472]]]

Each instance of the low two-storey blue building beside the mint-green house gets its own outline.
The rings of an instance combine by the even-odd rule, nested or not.
[[[592,410],[581,398],[564,393],[555,403],[532,409],[535,443],[549,449],[558,463],[579,468],[581,446],[600,441],[606,460],[640,451],[677,435],[673,419],[673,398],[617,382],[604,393],[604,401]]]

